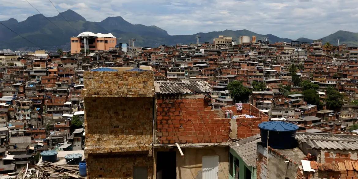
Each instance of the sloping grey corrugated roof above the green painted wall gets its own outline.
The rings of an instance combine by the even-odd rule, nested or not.
[[[257,142],[261,142],[260,134],[234,142],[230,145],[247,166],[256,165]]]

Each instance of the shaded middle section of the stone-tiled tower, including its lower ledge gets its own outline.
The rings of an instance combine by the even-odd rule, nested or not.
[[[86,147],[149,145],[153,98],[88,98]]]

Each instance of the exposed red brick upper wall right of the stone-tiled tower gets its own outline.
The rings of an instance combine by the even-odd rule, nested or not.
[[[192,96],[193,97],[193,96]],[[204,97],[163,99],[156,101],[156,129],[160,144],[185,143],[217,143],[229,140],[230,119],[225,118],[225,110],[234,114],[248,114],[257,118],[238,118],[237,138],[245,138],[260,133],[257,125],[267,121],[267,116],[261,116],[259,110],[250,104],[244,104],[242,111],[236,107],[226,107],[222,110],[212,110],[204,101]],[[251,106],[251,107],[250,107]],[[260,113],[260,117],[258,117]]]

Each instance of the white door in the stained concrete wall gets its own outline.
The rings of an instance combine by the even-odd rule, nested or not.
[[[219,156],[203,156],[203,179],[218,178]]]

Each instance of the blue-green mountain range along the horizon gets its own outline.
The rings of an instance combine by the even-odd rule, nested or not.
[[[256,35],[257,40],[263,40],[266,36],[269,37],[271,43],[292,41],[292,39],[280,38],[272,34],[257,34],[249,30],[224,30],[192,35],[169,35],[165,30],[157,26],[131,24],[121,16],[108,17],[101,22],[92,22],[87,21],[73,10],[64,11],[61,15],[45,17],[42,14],[37,14],[21,22],[14,18],[0,21],[17,34],[32,42],[28,42],[5,26],[0,25],[0,49],[34,50],[43,48],[46,50],[57,50],[58,48],[62,48],[68,50],[70,48],[70,37],[77,36],[79,33],[86,31],[103,34],[112,33],[117,38],[121,38],[118,40],[120,43],[128,43],[131,38],[135,38],[136,46],[145,47],[158,47],[163,44],[174,45],[175,43],[196,43],[196,35],[200,35],[200,41],[202,42],[212,42],[218,35],[227,35],[233,39],[237,39],[243,35],[249,37]],[[353,32],[339,30],[321,39],[323,43],[330,42],[331,44],[337,44],[338,38],[340,39],[340,44],[344,43],[348,46],[358,46],[358,33]],[[313,40],[307,38],[299,38],[297,40],[313,42]]]

